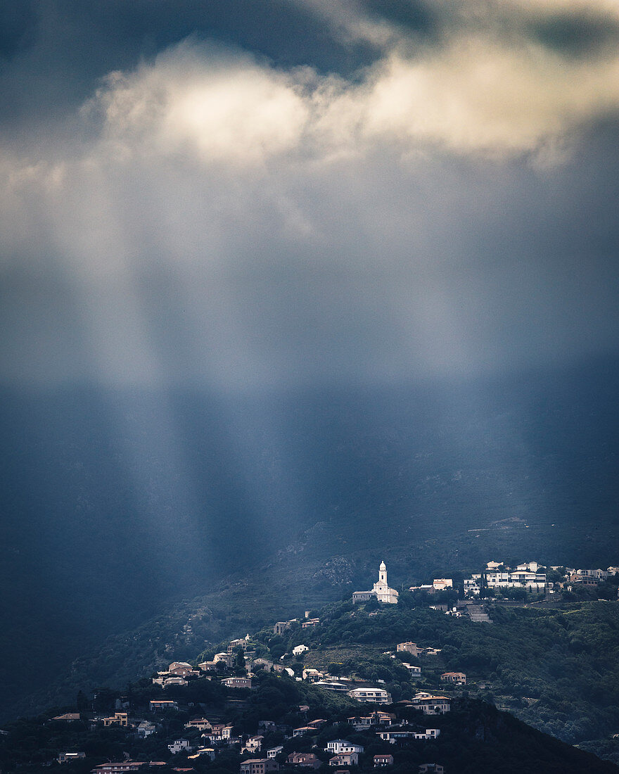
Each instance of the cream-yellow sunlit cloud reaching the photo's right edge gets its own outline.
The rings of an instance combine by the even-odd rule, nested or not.
[[[535,151],[619,107],[619,57],[567,62],[541,46],[453,39],[416,60],[398,54],[364,94],[364,135],[457,152]]]

